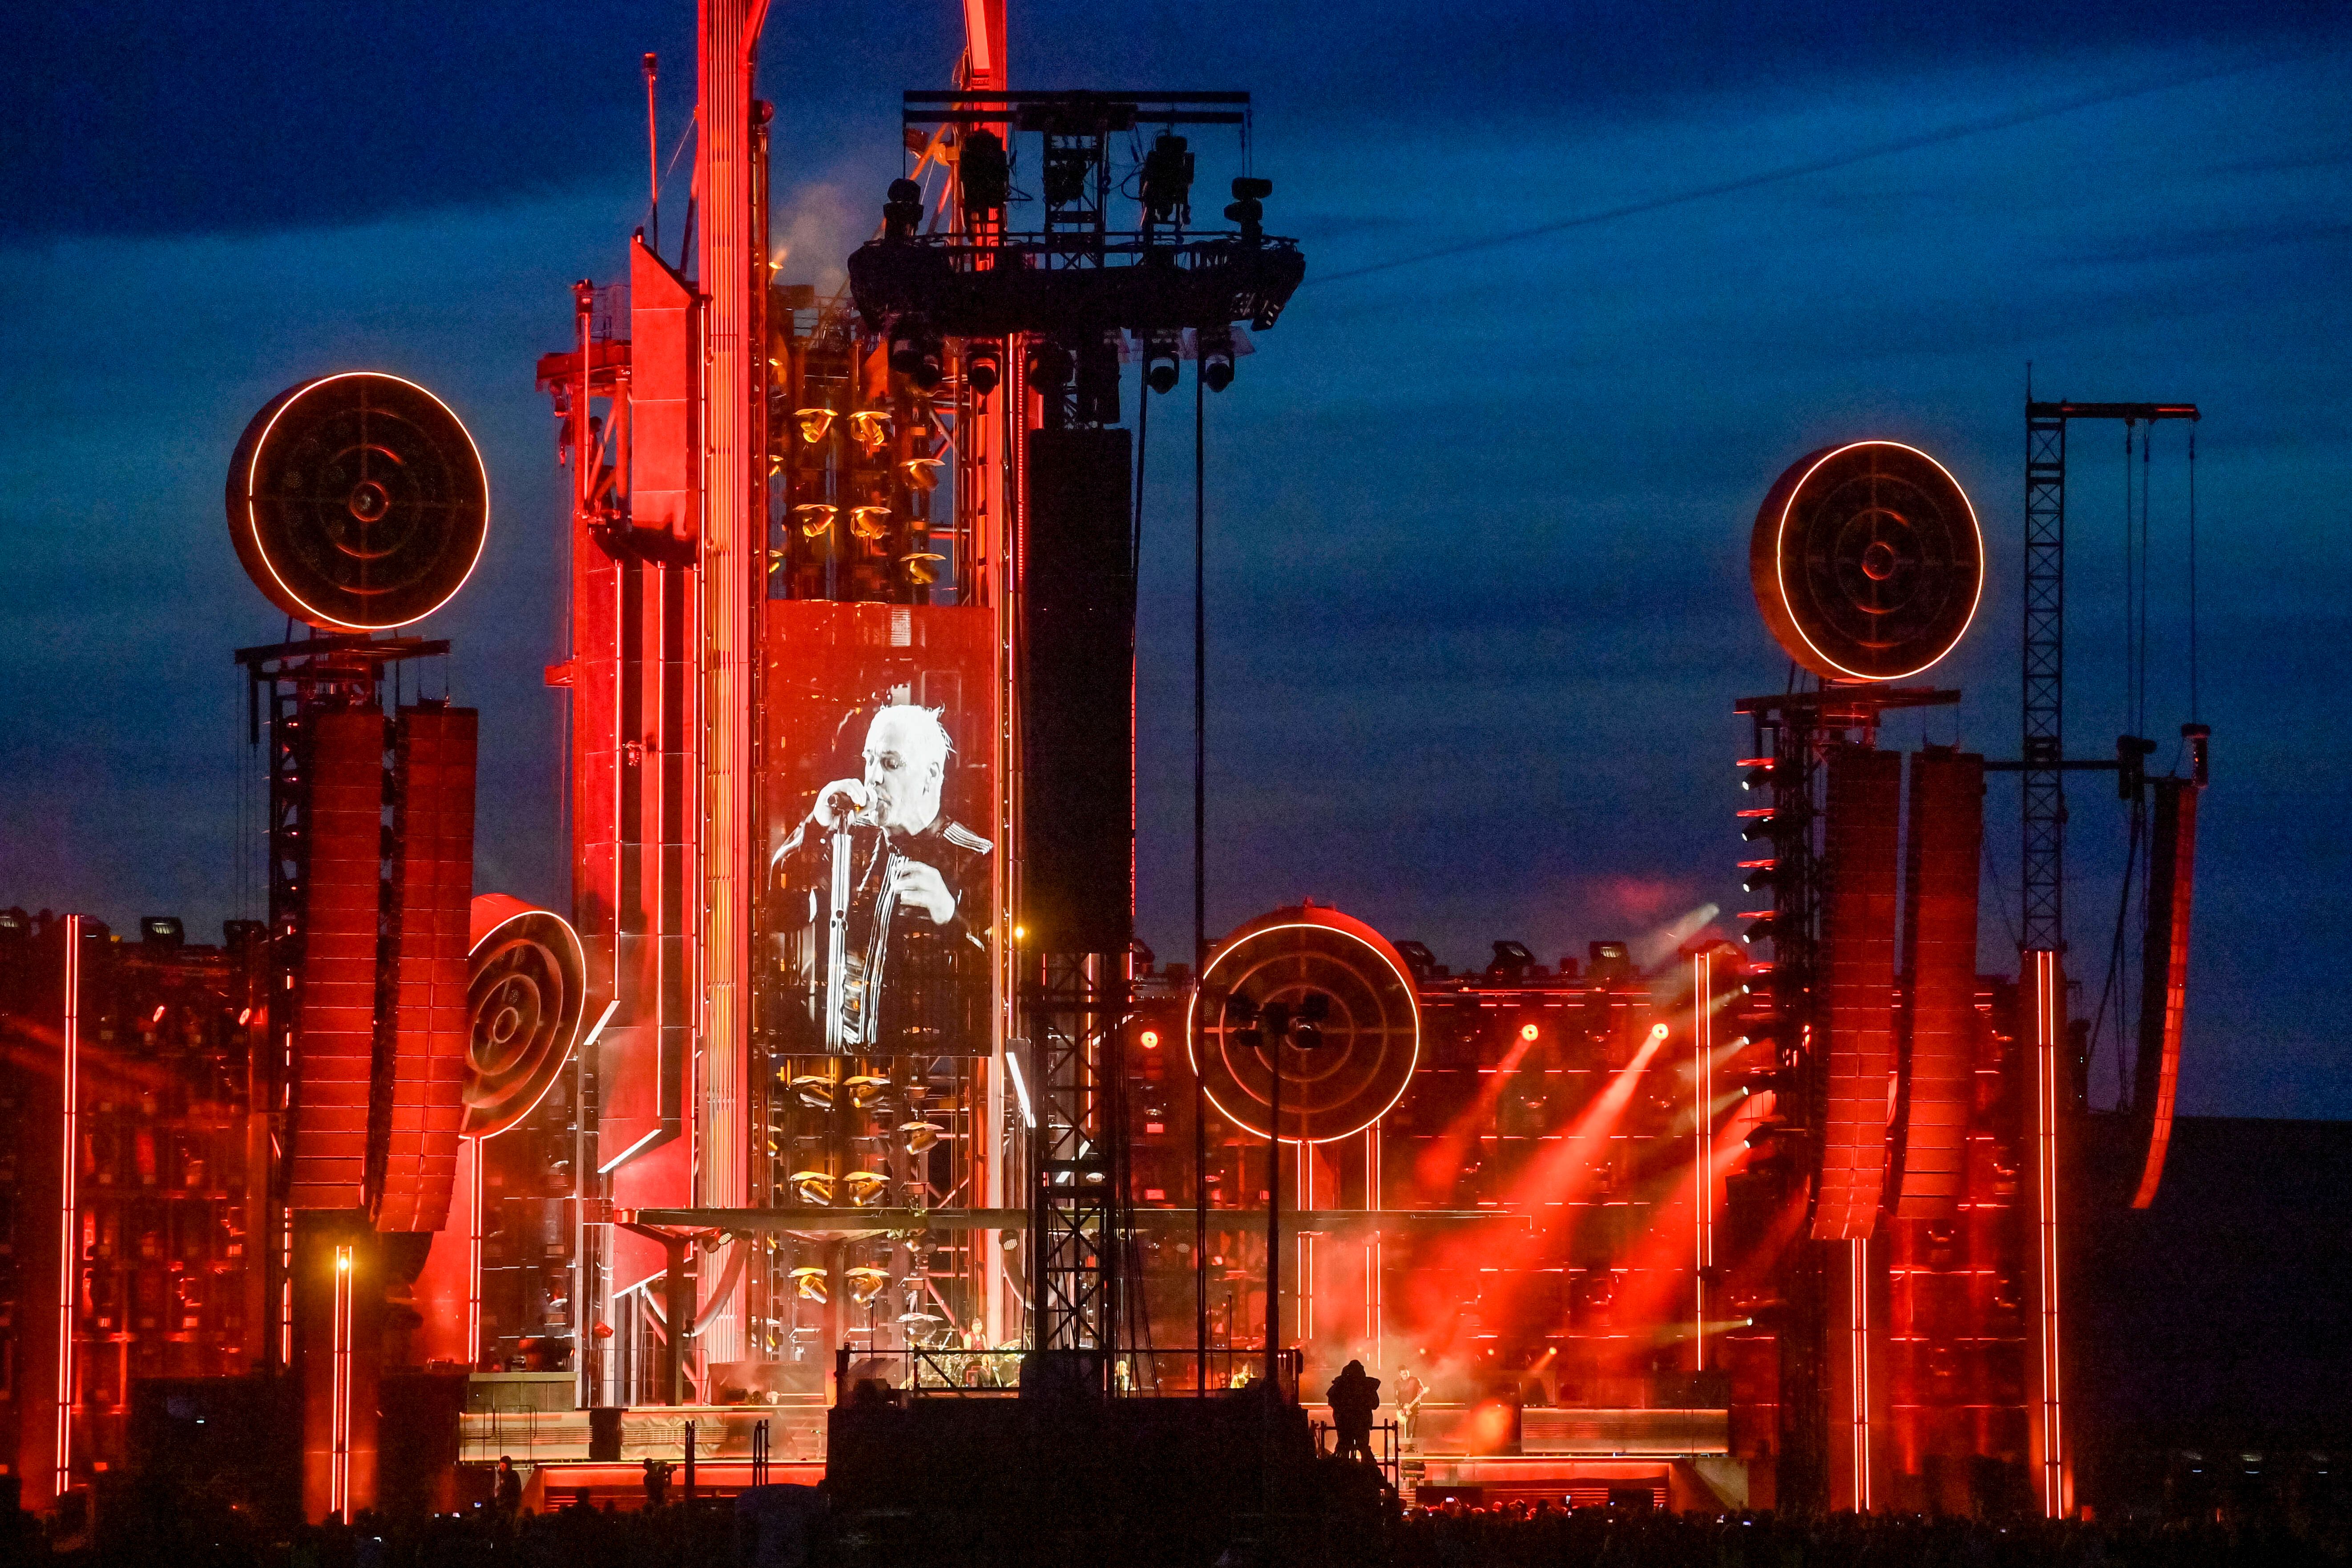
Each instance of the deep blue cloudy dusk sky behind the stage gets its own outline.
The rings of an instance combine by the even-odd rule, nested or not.
[[[835,282],[960,7],[779,0],[783,277]],[[221,522],[245,421],[374,367],[492,468],[421,628],[485,712],[477,886],[564,900],[562,480],[539,353],[644,212],[691,5],[40,7],[0,94],[0,903],[198,936],[259,912],[240,644],[285,632]],[[1035,5],[1021,87],[1247,87],[1289,315],[1211,400],[1209,926],[1336,903],[1451,964],[1740,907],[1733,698],[1788,661],[1745,574],[1797,456],[1926,447],[1992,543],[1891,741],[2018,750],[2037,395],[2192,400],[2204,799],[2183,1107],[2352,1117],[2352,12],[2321,5]],[[1202,141],[1204,172],[1230,148]],[[668,148],[666,148],[668,150]],[[677,186],[684,186],[684,162]],[[666,202],[675,247],[677,205]],[[1129,383],[1129,397],[1134,383]],[[2122,430],[2074,444],[2070,750],[2124,729]],[[2150,733],[2187,712],[2185,430],[2154,449]],[[1190,388],[1152,409],[1143,936],[1190,947]],[[428,691],[440,677],[428,677]],[[2074,788],[2072,969],[2124,818]],[[242,813],[242,816],[240,816]],[[2013,966],[2016,788],[1983,966]],[[242,827],[240,827],[242,823]],[[242,867],[242,870],[240,870]],[[2098,1072],[2105,1095],[2112,1065]]]

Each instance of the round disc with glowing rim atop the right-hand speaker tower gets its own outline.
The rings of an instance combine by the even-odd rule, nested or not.
[[[1771,487],[1748,576],[1764,625],[1813,675],[1910,679],[1976,618],[1985,531],[1929,454],[1849,442],[1799,458]]]

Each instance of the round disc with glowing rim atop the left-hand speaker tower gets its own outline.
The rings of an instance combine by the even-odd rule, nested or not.
[[[287,388],[228,463],[228,536],[270,604],[386,632],[456,597],[489,538],[482,451],[433,393],[346,371]]]

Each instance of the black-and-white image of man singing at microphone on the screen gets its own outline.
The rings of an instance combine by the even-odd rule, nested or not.
[[[983,1048],[990,844],[941,811],[950,750],[938,710],[880,708],[863,773],[818,788],[776,846],[786,1048]]]

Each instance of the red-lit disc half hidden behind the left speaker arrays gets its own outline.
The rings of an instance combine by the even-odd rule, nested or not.
[[[562,914],[506,893],[473,900],[466,954],[466,1138],[496,1138],[555,1084],[588,1001],[581,938]]]

